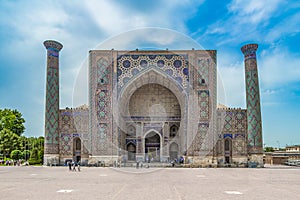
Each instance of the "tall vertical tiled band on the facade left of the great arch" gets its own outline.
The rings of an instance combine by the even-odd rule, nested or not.
[[[91,153],[108,155],[112,145],[112,54],[109,51],[93,52],[90,57],[90,133]]]

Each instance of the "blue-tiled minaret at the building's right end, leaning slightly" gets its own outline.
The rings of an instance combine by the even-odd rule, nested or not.
[[[257,44],[244,45],[241,50],[245,61],[248,153],[250,161],[263,165],[263,142],[260,95],[256,62]]]

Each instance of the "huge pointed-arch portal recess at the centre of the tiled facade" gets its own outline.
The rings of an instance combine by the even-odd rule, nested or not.
[[[126,144],[136,144],[136,160],[167,162],[170,160],[169,144],[179,144],[178,154],[186,148],[186,93],[175,80],[156,70],[150,70],[130,80],[120,91],[118,100],[121,149],[127,150]],[[128,130],[135,130],[130,134]],[[171,127],[176,127],[176,134],[170,135]],[[152,134],[159,135],[154,141]],[[158,137],[156,136],[156,139]],[[128,158],[128,153],[123,156]]]

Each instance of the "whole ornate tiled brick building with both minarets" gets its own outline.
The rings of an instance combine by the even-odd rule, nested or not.
[[[247,110],[217,107],[214,50],[89,52],[89,106],[59,109],[58,58],[47,49],[44,163],[263,165],[256,44],[245,56]]]

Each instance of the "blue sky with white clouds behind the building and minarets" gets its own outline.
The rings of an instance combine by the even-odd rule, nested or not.
[[[258,43],[264,143],[300,144],[300,2],[292,0],[0,0],[0,108],[23,113],[25,135],[43,135],[43,41],[64,45],[64,108],[72,106],[74,83],[88,51],[112,36],[144,27],[171,29],[205,49],[216,49],[226,96],[221,103],[231,107],[246,104],[240,47]]]

